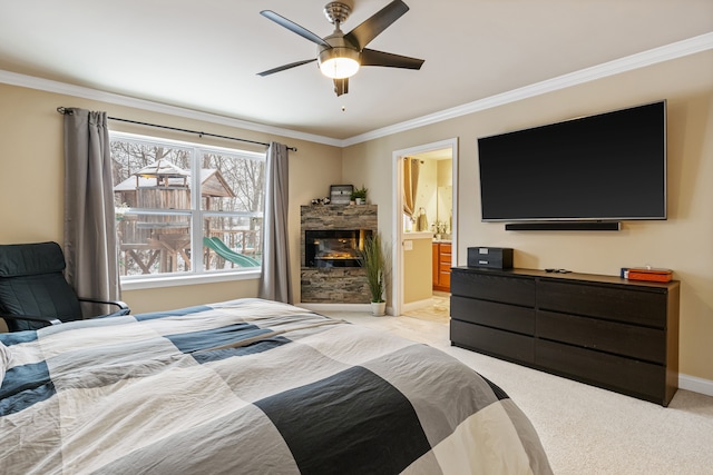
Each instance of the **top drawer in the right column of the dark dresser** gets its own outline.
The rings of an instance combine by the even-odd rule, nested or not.
[[[627,289],[592,284],[541,280],[537,306],[545,310],[586,315],[651,327],[666,327],[665,289]]]

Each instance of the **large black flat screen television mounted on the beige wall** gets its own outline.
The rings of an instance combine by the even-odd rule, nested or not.
[[[478,139],[482,221],[666,219],[666,101]]]

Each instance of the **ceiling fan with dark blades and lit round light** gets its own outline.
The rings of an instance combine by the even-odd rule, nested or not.
[[[340,26],[346,20],[351,11],[352,7],[345,3],[344,0],[329,2],[324,6],[324,14],[326,14],[330,23],[334,24],[334,32],[324,38],[318,37],[312,31],[281,17],[272,10],[261,11],[260,14],[263,17],[316,43],[318,52],[316,58],[291,62],[290,65],[258,72],[257,75],[268,76],[318,61],[322,73],[334,80],[334,92],[336,92],[336,96],[341,96],[349,92],[349,78],[354,76],[361,66],[421,69],[421,65],[423,65],[422,59],[365,48],[377,36],[401,18],[403,13],[409,11],[409,7],[403,1],[393,0],[349,33],[344,33]]]

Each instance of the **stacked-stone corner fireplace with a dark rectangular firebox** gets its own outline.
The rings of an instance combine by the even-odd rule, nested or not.
[[[312,205],[300,211],[301,301],[369,304],[354,249],[377,232],[377,205]]]

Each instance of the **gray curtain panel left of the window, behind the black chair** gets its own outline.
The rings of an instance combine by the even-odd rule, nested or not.
[[[65,259],[67,280],[80,297],[119,298],[106,112],[65,109]],[[115,309],[95,304],[84,310]]]

